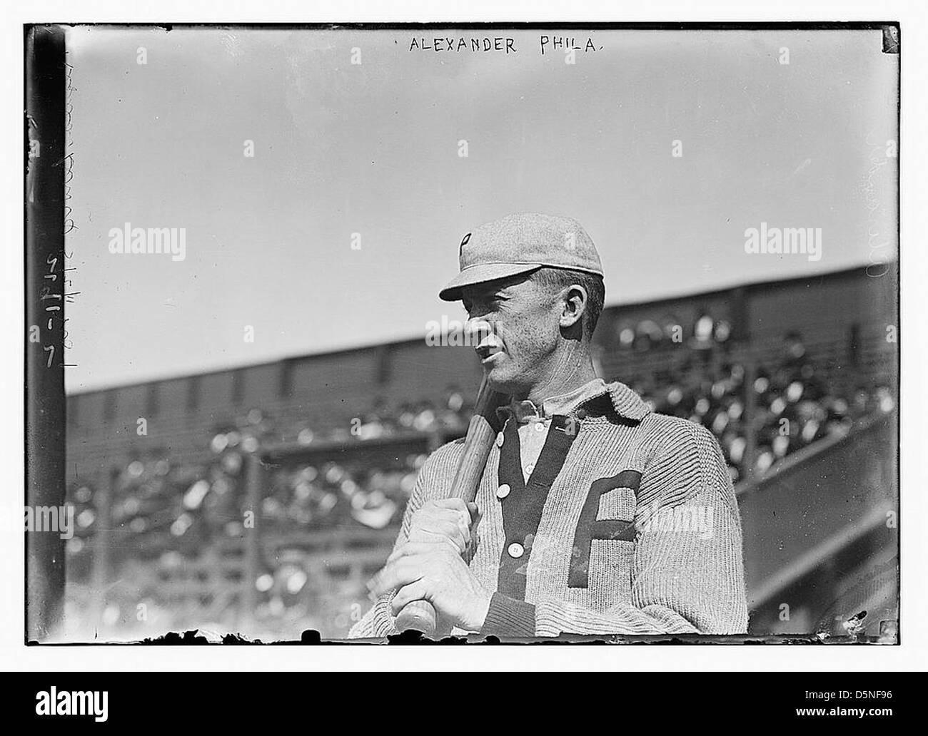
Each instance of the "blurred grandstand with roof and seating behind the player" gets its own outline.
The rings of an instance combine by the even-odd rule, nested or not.
[[[883,292],[874,296],[878,285],[868,282],[870,301],[879,301]],[[807,294],[802,283],[780,286],[774,298],[784,310]],[[860,274],[836,274],[831,286],[851,293]],[[769,519],[778,510],[788,519],[821,476],[834,482],[840,473],[823,463],[854,454],[847,438],[895,415],[896,346],[872,303],[857,314],[823,311],[818,321],[787,316],[778,332],[758,336],[751,307],[769,289],[750,288],[607,309],[599,374],[718,438],[742,516],[754,514],[744,520],[753,630],[800,631],[841,607],[834,599],[842,587],[863,590],[857,578],[868,568],[860,560],[856,572],[831,564],[840,550],[829,552],[830,539],[845,539],[840,549],[857,545],[864,563],[888,569],[892,545],[860,520],[877,501],[828,539],[806,544],[814,531],[796,538],[776,570],[753,557],[768,556],[770,545],[782,552],[775,534],[765,537]],[[479,378],[469,348],[416,340],[71,397],[76,530],[67,546],[67,620],[128,639],[187,628],[264,639],[297,639],[306,628],[344,636],[367,608],[365,582],[390,552],[419,468],[466,432]],[[260,403],[246,403],[262,391]],[[176,411],[167,414],[165,404]],[[873,498],[883,503],[896,498],[895,452],[880,447],[873,440],[870,451],[879,470]],[[778,468],[798,480],[774,488]],[[820,498],[816,514],[831,514],[842,490],[828,492],[833,498]],[[785,496],[773,511],[754,501],[776,494]],[[758,514],[771,515],[761,524]],[[891,608],[892,580],[881,575],[888,582],[872,595]],[[794,613],[783,619],[776,597],[789,590]],[[831,599],[821,603],[821,595]],[[891,611],[884,615],[891,620]]]

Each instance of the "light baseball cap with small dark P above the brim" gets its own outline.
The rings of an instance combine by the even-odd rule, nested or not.
[[[569,217],[518,212],[464,235],[460,273],[438,292],[458,301],[461,288],[528,273],[543,266],[602,275],[602,263],[583,226]]]

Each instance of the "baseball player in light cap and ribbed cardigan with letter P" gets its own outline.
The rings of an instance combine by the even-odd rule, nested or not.
[[[605,289],[583,227],[513,214],[464,235],[458,256],[439,296],[463,302],[487,382],[509,394],[503,430],[475,503],[448,498],[461,441],[423,465],[377,603],[351,635],[395,633],[417,600],[445,631],[499,637],[745,631],[722,453],[702,425],[597,377]]]

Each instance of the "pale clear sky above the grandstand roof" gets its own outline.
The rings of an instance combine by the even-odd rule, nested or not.
[[[463,235],[513,211],[583,223],[611,305],[896,253],[875,31],[97,26],[68,49],[69,393],[424,338],[464,317],[437,297]],[[184,260],[110,252],[126,222],[183,228]],[[820,228],[821,258],[746,253],[761,222]]]

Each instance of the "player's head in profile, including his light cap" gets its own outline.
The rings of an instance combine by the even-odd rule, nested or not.
[[[593,381],[590,339],[605,298],[593,240],[566,217],[519,213],[464,235],[439,292],[470,314],[490,385],[536,403]]]

